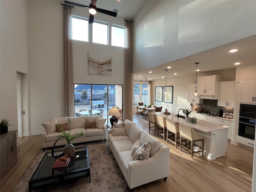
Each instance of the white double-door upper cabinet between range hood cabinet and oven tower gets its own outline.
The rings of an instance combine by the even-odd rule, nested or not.
[[[218,106],[233,107],[235,104],[235,82],[223,81],[218,85]]]

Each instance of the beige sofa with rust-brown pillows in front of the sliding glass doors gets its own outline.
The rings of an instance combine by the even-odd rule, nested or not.
[[[57,120],[57,123],[56,123]],[[86,122],[95,122],[98,128],[86,128]],[[73,143],[82,143],[95,140],[106,140],[107,139],[107,126],[105,125],[106,119],[102,116],[81,116],[81,117],[62,117],[52,118],[49,122],[42,123],[46,128],[41,133],[41,148],[44,150],[47,147],[52,147],[54,142],[58,139],[60,133],[56,128],[56,124],[68,124],[67,132],[75,134],[76,132],[83,131],[84,135],[80,138],[76,138]],[[60,138],[56,143],[56,146],[66,145],[66,139]]]

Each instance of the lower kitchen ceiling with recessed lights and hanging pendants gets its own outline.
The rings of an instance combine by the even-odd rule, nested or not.
[[[237,52],[229,52],[235,48],[238,49]],[[168,69],[167,78],[194,74],[196,71],[195,62],[199,62],[198,69],[200,71],[198,74],[200,72],[234,69],[236,62],[241,63],[239,66],[256,64],[256,35],[138,72],[134,74],[134,80],[145,80],[145,77],[147,80],[150,78],[156,80],[165,77],[165,70],[168,66],[172,68]],[[150,74],[149,71],[152,73]],[[177,75],[174,75],[175,72]]]

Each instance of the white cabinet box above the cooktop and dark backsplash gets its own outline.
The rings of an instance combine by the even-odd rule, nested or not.
[[[197,78],[198,93],[201,98],[218,99],[218,82],[220,76],[209,75]]]

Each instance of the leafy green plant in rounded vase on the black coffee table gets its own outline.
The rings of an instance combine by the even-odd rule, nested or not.
[[[58,127],[57,127],[58,129]],[[72,141],[74,141],[76,138],[80,137],[84,135],[84,132],[76,132],[74,135],[71,135],[70,133],[62,130],[60,132],[60,135],[58,135],[57,137],[61,138],[64,137],[67,140],[67,144],[64,147],[64,155],[68,154],[68,157],[72,157],[75,154],[75,146],[71,143]]]

